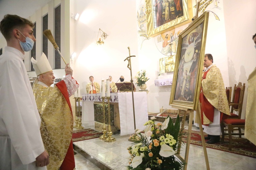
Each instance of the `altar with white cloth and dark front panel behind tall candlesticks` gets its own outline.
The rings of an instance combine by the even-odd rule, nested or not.
[[[144,123],[148,121],[148,100],[147,92],[134,92],[134,109],[136,128],[143,130]],[[110,118],[114,122],[112,131],[119,128],[121,134],[127,135],[134,133],[134,115],[132,92],[110,93]],[[101,93],[82,95],[82,123],[95,121],[95,129],[102,130],[102,123],[98,122],[99,116],[95,115],[100,110],[97,106],[101,104]],[[105,99],[106,104],[106,99]],[[107,117],[107,113],[105,114]],[[108,121],[105,121],[108,124]],[[112,126],[111,126],[112,127]]]

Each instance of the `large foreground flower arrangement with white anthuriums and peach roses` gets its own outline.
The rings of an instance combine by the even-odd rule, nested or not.
[[[183,169],[184,162],[174,155],[178,149],[178,141],[181,140],[180,121],[177,116],[175,124],[168,116],[162,123],[155,124],[155,117],[144,125],[144,133],[137,130],[141,136],[128,147],[130,157],[128,169],[134,170],[178,170]]]

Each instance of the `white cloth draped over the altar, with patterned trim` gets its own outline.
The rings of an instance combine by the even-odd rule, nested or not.
[[[85,123],[86,121],[94,121],[93,103],[94,101],[101,101],[99,100],[99,95],[101,94],[97,94],[97,97],[95,97],[95,95],[96,94],[82,95],[82,123]],[[121,130],[120,135],[122,136],[127,134],[134,134],[135,129],[132,92],[110,93],[110,96],[112,98],[112,101],[110,102],[118,102]],[[144,130],[145,127],[143,125],[144,123],[146,123],[146,121],[148,121],[147,92],[134,92],[134,110],[136,118],[136,128]]]

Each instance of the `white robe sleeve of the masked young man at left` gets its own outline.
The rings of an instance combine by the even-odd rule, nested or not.
[[[1,63],[0,118],[5,130],[0,135],[9,136],[21,162],[29,164],[45,149],[39,113],[22,64],[17,60]]]

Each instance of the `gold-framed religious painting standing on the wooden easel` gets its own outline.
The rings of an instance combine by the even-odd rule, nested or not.
[[[209,13],[203,13],[179,35],[170,96],[171,106],[196,110]]]

